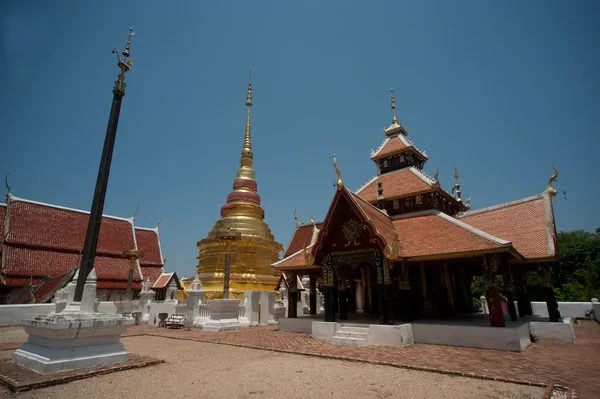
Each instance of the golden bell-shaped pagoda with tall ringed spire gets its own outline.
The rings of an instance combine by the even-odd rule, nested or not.
[[[252,70],[250,70],[252,72]],[[198,241],[197,273],[207,299],[223,297],[225,263],[229,257],[229,298],[241,299],[245,290],[272,291],[279,282],[280,272],[270,265],[279,260],[283,250],[275,241],[271,229],[263,221],[265,211],[260,206],[254,179],[254,156],[250,141],[250,107],[252,80],[246,96],[246,133],[240,167],[233,181],[233,191],[221,208],[218,220],[208,236]]]

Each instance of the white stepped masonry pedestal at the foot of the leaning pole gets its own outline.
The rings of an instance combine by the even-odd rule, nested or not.
[[[65,311],[23,320],[29,339],[14,352],[12,361],[38,373],[50,374],[129,360],[129,353],[119,339],[134,323],[133,319]]]

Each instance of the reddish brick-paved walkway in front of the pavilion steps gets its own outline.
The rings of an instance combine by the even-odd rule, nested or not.
[[[576,344],[531,344],[524,352],[415,344],[404,348],[331,345],[309,334],[278,331],[277,326],[254,327],[228,332],[184,331],[133,326],[124,336],[140,334],[244,346],[255,349],[317,355],[442,371],[464,376],[540,385],[560,384],[575,389],[578,398],[596,398],[600,392],[597,375],[600,358],[600,324],[580,321],[575,326]]]

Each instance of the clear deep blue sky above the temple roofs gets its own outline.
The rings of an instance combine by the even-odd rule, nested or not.
[[[166,268],[231,191],[253,69],[258,192],[287,245],[293,211],[325,216],[333,153],[356,189],[391,122],[389,90],[446,188],[472,208],[542,192],[560,174],[559,230],[600,227],[600,3],[566,1],[3,1],[0,173],[13,194],[89,209],[129,26],[135,59],[105,213],[153,227]]]

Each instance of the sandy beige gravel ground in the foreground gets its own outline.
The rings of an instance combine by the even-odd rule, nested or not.
[[[542,398],[544,389],[160,337],[124,338],[167,363],[2,398]],[[8,358],[12,351],[0,352]]]

